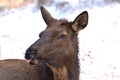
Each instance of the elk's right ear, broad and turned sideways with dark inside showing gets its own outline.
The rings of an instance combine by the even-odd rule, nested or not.
[[[80,30],[84,29],[88,24],[88,12],[84,11],[79,14],[72,23],[72,29],[78,33]]]

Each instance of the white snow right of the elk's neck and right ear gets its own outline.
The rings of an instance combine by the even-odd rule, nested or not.
[[[89,24],[79,36],[81,80],[120,80],[119,9],[115,4],[89,11]]]

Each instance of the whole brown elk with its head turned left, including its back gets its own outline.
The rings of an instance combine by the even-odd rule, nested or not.
[[[78,33],[88,24],[88,12],[74,21],[57,20],[40,7],[47,28],[25,52],[25,59],[0,60],[0,80],[79,80]]]

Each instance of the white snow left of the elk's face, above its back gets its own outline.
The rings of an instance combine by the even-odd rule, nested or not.
[[[0,17],[1,59],[24,59],[25,49],[38,39],[39,32],[45,28],[40,12],[21,13]]]

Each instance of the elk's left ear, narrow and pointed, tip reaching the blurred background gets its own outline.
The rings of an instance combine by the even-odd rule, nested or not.
[[[50,13],[43,6],[41,6],[40,9],[41,9],[41,14],[42,14],[42,17],[45,23],[49,25],[50,22],[54,20],[54,18],[50,15]]]

